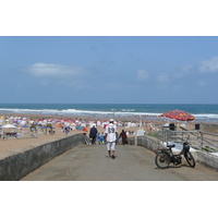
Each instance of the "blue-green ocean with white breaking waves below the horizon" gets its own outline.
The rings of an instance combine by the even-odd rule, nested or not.
[[[170,110],[192,113],[196,122],[218,122],[218,105],[196,104],[0,104],[0,113],[157,119]]]

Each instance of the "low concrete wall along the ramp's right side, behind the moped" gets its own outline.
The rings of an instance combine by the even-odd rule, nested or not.
[[[137,146],[143,146],[154,153],[157,153],[157,149],[160,148],[159,141],[149,136],[137,136],[136,143],[135,137],[129,137],[128,141],[130,145],[137,144]],[[192,155],[196,162],[218,171],[218,156],[203,153],[201,150],[192,152]]]

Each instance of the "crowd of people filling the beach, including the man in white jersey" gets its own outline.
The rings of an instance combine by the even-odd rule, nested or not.
[[[106,145],[108,150],[108,157],[114,159],[116,145],[126,145],[128,137],[137,134],[137,130],[157,131],[159,124],[153,121],[140,121],[140,120],[90,120],[85,118],[38,118],[37,117],[13,117],[4,116],[0,117],[0,125],[13,124],[16,125],[16,130],[20,132],[27,132],[29,134],[33,124],[35,131],[34,137],[38,137],[38,134],[49,135],[71,135],[71,134],[88,134],[90,144]],[[24,128],[24,125],[26,125]],[[3,129],[2,129],[3,130]],[[2,134],[3,135],[3,134]],[[17,132],[16,138],[20,138],[21,133]],[[39,136],[41,137],[41,136]]]

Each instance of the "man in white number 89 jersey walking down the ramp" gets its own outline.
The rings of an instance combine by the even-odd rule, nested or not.
[[[106,126],[105,131],[105,142],[107,144],[107,150],[109,158],[114,159],[116,156],[116,141],[118,135],[118,128],[113,124],[114,120],[110,119],[109,124]],[[112,156],[111,156],[112,155]]]

